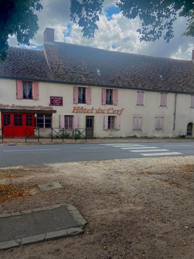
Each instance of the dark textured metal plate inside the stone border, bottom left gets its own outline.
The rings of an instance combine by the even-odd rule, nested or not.
[[[0,218],[0,242],[80,226],[65,206]]]

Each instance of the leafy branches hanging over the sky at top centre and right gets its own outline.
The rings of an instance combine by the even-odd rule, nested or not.
[[[142,29],[137,29],[140,41],[156,41],[163,36],[168,43],[174,37],[173,22],[177,16],[188,17],[186,36],[194,34],[193,0],[115,0],[122,15],[128,19],[139,17]],[[71,20],[82,27],[84,37],[93,38],[98,29],[96,22],[104,0],[71,0]]]

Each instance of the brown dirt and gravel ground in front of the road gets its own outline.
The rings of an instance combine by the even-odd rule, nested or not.
[[[88,222],[80,236],[0,251],[0,258],[193,258],[193,172],[194,156],[0,169],[0,184],[26,190],[1,202],[0,213],[70,203]],[[37,187],[54,181],[64,188]]]

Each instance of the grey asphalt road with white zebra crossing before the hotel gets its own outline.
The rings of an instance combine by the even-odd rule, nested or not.
[[[194,142],[0,145],[0,167],[176,155],[194,155]]]

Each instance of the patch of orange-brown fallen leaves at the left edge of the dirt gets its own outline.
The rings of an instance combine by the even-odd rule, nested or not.
[[[25,197],[31,196],[28,193],[32,186],[26,186],[21,188],[12,184],[0,184],[0,202],[11,200],[11,199],[24,199]]]

